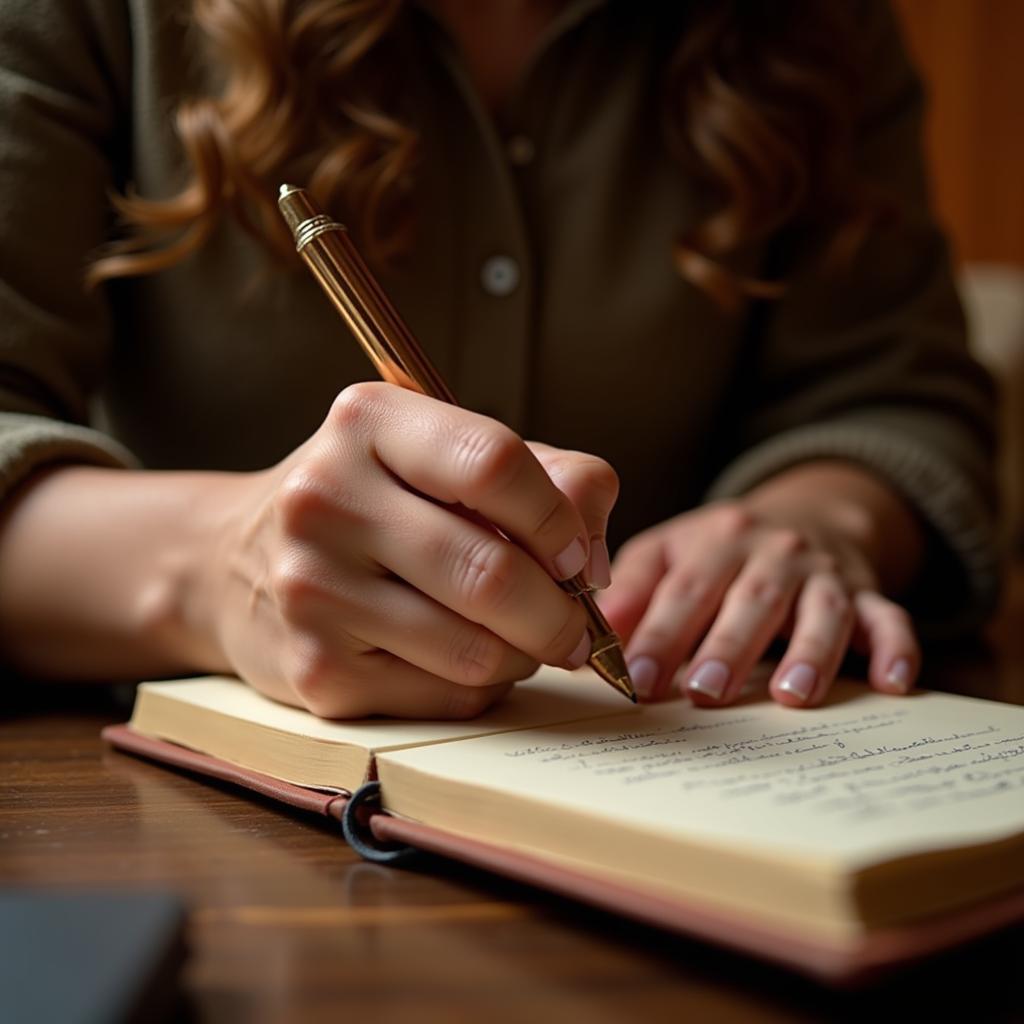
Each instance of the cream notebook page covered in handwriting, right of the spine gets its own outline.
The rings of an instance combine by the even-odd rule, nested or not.
[[[675,701],[388,755],[419,772],[662,836],[855,867],[1024,831],[1024,709],[842,683],[828,706]]]

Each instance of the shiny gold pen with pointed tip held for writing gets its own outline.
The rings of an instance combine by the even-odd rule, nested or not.
[[[362,261],[343,224],[319,210],[305,190],[282,185],[278,199],[295,248],[351,328],[381,377],[399,387],[457,406],[455,395],[413,337]],[[590,665],[620,693],[636,702],[623,647],[601,614],[583,574],[560,582],[583,604],[591,638]]]

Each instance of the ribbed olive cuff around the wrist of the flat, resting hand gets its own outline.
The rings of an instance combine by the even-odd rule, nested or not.
[[[1000,587],[993,516],[961,469],[905,433],[843,423],[790,430],[730,463],[708,498],[735,498],[799,463],[837,458],[883,477],[916,509],[957,563],[967,599],[959,607],[930,608],[925,625],[965,630],[984,622]],[[930,618],[938,622],[929,624]]]

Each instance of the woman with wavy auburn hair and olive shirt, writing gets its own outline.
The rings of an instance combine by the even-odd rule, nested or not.
[[[991,393],[891,15],[825,6],[0,3],[8,664],[471,715],[583,663],[585,567],[645,697],[779,636],[784,703],[905,692],[904,605],[991,605]],[[284,180],[467,409],[352,383]]]

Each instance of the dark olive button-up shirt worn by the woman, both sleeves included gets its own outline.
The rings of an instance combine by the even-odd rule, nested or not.
[[[991,386],[927,207],[920,85],[888,8],[860,7],[857,156],[902,219],[831,276],[818,233],[787,230],[743,260],[788,276],[785,296],[730,315],[671,256],[708,210],[660,128],[685,5],[570,0],[501,128],[410,5],[422,202],[415,250],[384,284],[463,404],[614,466],[613,542],[801,461],[850,459],[929,526],[921,610],[968,621],[996,589]],[[166,197],[185,180],[172,114],[216,80],[187,9],[0,0],[3,492],[55,460],[264,467],[373,377],[308,275],[233,223],[169,271],[84,290],[111,190]]]

